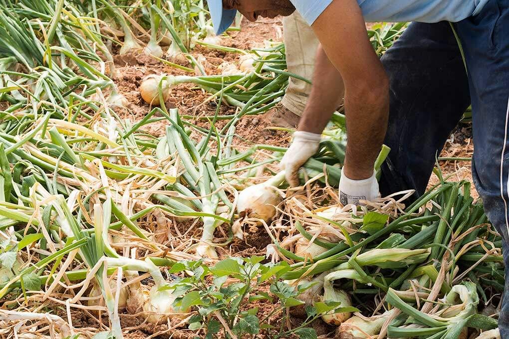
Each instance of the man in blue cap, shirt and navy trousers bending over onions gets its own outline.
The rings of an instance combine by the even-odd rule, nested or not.
[[[501,337],[509,338],[509,0],[208,3],[217,33],[229,27],[236,10],[255,21],[297,9],[320,40],[312,93],[281,162],[292,184],[298,183],[298,169],[318,150],[337,99],[344,96],[348,143],[342,202],[408,189],[420,196],[437,152],[472,105],[473,179],[490,221],[505,240],[499,328]],[[365,21],[414,22],[380,60],[367,38]],[[373,168],[382,143],[392,150],[379,187]]]

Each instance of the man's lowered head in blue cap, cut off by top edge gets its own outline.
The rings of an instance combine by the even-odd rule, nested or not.
[[[216,34],[223,33],[235,19],[237,11],[249,21],[259,16],[274,18],[288,16],[295,11],[290,0],[207,0]]]

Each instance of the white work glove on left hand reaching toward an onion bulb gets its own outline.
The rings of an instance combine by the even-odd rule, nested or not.
[[[297,131],[293,134],[292,145],[279,165],[292,187],[299,186],[299,169],[318,151],[321,139],[321,134],[310,132]]]

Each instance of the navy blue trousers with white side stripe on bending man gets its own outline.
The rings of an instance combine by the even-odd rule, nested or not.
[[[382,195],[406,189],[422,195],[450,132],[472,105],[472,174],[488,218],[505,240],[505,293],[499,327],[509,338],[509,0],[489,0],[482,12],[454,23],[412,23],[382,58],[390,79]]]

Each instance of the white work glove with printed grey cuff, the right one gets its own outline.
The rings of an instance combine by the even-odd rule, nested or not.
[[[345,175],[345,169],[341,170],[340,179],[340,202],[343,206],[354,204],[360,205],[359,200],[372,201],[380,198],[380,190],[376,173],[370,178],[352,180]]]

